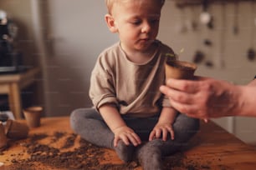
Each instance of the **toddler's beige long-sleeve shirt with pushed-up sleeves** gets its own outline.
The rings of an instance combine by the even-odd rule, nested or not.
[[[100,53],[90,78],[90,98],[97,109],[112,103],[120,114],[148,117],[159,113],[161,107],[170,107],[159,87],[165,83],[164,62],[174,52],[156,43],[156,52],[144,64],[131,62],[120,42]]]

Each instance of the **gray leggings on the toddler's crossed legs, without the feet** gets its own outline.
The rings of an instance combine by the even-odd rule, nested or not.
[[[154,117],[129,117],[122,116],[127,126],[132,128],[142,141],[148,141],[151,130],[155,127],[159,115]],[[100,113],[94,108],[79,108],[74,110],[70,116],[71,128],[74,132],[79,134],[81,138],[100,147],[114,148],[113,140],[114,133],[106,125]],[[162,155],[169,155],[182,144],[192,138],[199,129],[198,119],[187,117],[185,114],[178,114],[173,123],[175,139],[170,137],[166,142],[161,141],[157,145],[162,145]],[[154,140],[148,143],[154,143]]]

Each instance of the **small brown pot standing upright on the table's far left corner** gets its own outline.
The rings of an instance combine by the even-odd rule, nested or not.
[[[28,107],[23,109],[24,117],[29,128],[37,128],[41,125],[43,107]]]

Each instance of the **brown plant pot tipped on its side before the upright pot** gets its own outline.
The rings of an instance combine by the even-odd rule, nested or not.
[[[28,126],[23,122],[8,120],[5,125],[5,134],[11,139],[22,139],[28,137]]]

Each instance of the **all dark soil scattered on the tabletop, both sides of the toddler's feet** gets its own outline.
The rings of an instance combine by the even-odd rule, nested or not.
[[[50,143],[43,143],[42,141],[45,138],[48,138]],[[56,143],[58,144],[56,145]],[[74,147],[75,143],[79,147]],[[77,145],[78,143],[79,145]],[[23,147],[23,153],[11,155],[12,159],[9,161],[12,165],[8,166],[8,170],[45,169],[38,168],[38,165],[49,167],[47,169],[61,170],[132,170],[140,167],[139,163],[136,162],[100,164],[100,161],[106,158],[105,149],[86,142],[74,133],[55,132],[53,135],[44,133],[33,134],[21,145]],[[202,165],[197,160],[189,160],[182,153],[176,153],[171,157],[165,158],[163,161],[165,170],[211,169],[208,166],[209,164]],[[224,170],[226,168],[221,169]]]

